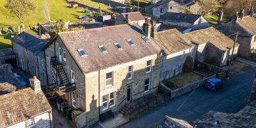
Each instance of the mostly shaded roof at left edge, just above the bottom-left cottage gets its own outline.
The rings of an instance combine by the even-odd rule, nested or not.
[[[13,74],[11,66],[0,65],[0,95],[24,88],[19,79]]]

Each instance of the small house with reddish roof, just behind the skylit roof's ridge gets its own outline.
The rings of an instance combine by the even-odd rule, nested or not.
[[[140,12],[129,12],[129,13],[122,13],[118,15],[115,20],[115,24],[138,24],[139,26],[143,26],[145,23],[145,17]]]

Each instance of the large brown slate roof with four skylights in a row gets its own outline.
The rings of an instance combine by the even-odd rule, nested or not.
[[[63,32],[58,33],[58,36],[84,73],[138,60],[161,51],[154,41],[145,42],[141,38],[144,35],[140,28],[127,24]],[[130,45],[128,39],[131,39],[135,45]],[[119,43],[122,50],[118,50],[114,43]],[[99,45],[104,45],[108,52],[100,51]],[[88,56],[80,56],[77,49],[81,48]]]

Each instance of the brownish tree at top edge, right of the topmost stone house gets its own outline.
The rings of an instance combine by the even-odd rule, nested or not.
[[[220,0],[200,0],[203,15],[209,12],[216,12],[221,7]]]

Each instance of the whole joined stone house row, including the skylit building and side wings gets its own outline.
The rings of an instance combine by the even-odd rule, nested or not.
[[[157,92],[160,81],[182,72],[188,56],[205,61],[209,54],[216,54],[222,66],[233,50],[233,41],[214,28],[187,34],[177,29],[157,32],[148,20],[144,28],[122,24],[68,31],[47,43],[21,33],[12,42],[17,44],[13,49],[19,67],[37,76],[52,97],[81,111],[74,122],[77,127],[88,127],[104,113],[119,111],[132,100]],[[36,49],[26,49],[24,44],[29,42]]]

